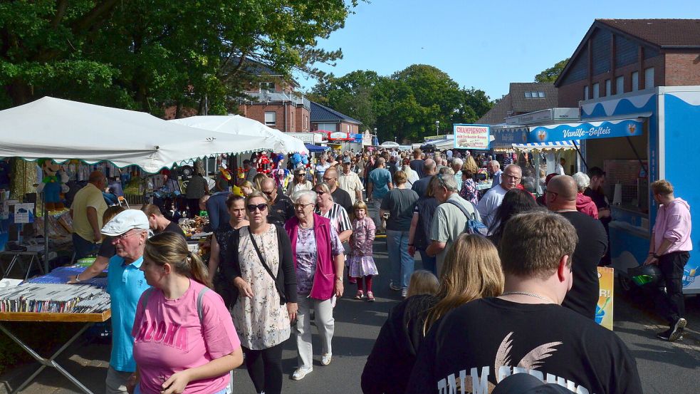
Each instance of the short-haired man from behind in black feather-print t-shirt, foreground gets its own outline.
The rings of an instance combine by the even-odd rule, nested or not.
[[[574,393],[642,393],[625,343],[560,306],[574,281],[576,242],[576,230],[558,214],[511,218],[501,241],[503,295],[470,301],[435,323],[407,393],[492,393],[515,373]]]

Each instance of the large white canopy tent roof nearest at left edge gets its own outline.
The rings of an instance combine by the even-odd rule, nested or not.
[[[44,97],[0,111],[0,157],[103,160],[158,172],[218,154],[262,150],[266,138],[171,123],[147,113]]]

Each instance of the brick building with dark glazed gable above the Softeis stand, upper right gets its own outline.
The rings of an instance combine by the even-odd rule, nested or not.
[[[700,85],[700,19],[596,19],[555,82],[559,105]]]

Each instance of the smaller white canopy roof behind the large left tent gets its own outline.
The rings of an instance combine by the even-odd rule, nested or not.
[[[241,115],[192,116],[170,120],[170,122],[232,135],[263,136],[266,138],[263,147],[273,152],[300,152],[308,154],[308,149],[302,140],[286,135],[280,130],[268,128],[257,120],[245,118]]]

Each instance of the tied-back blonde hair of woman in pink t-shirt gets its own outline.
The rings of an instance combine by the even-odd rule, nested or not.
[[[184,237],[174,232],[162,232],[146,241],[143,257],[157,266],[170,264],[177,274],[187,276],[211,288],[207,266],[198,254],[189,252]]]

